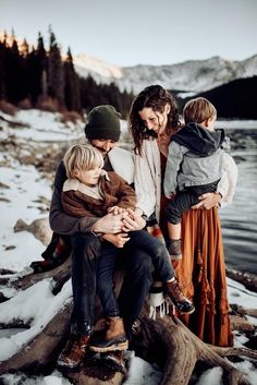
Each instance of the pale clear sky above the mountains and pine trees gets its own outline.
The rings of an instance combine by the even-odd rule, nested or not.
[[[0,31],[117,65],[257,53],[257,0],[0,0]]]

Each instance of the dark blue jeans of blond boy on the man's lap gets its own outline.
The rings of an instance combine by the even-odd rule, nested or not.
[[[148,293],[151,282],[148,276],[149,268],[147,268],[149,257],[162,281],[174,277],[170,255],[158,239],[146,230],[132,231],[128,237],[130,240],[121,249],[110,242],[103,242],[97,264],[97,292],[105,314],[106,316],[122,315],[125,322],[127,318],[132,322],[139,314]],[[125,268],[125,282],[117,301],[113,292],[113,272],[120,261]],[[146,278],[148,278],[147,285]],[[134,311],[131,314],[132,310]]]

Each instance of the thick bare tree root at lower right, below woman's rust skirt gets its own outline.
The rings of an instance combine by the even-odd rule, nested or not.
[[[158,354],[159,348],[164,350],[164,366],[161,385],[188,384],[197,361],[205,362],[209,368],[221,366],[224,371],[225,384],[248,385],[249,382],[232,363],[224,360],[227,356],[248,356],[257,358],[249,349],[215,348],[203,342],[174,316],[152,321],[144,314],[137,330],[139,345],[146,351]],[[221,353],[222,352],[222,353]],[[152,359],[152,357],[151,357]]]

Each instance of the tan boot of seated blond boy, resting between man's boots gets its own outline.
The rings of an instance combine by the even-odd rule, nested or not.
[[[107,318],[108,329],[106,338],[90,341],[90,350],[106,352],[111,350],[125,350],[128,347],[123,320],[119,316]]]

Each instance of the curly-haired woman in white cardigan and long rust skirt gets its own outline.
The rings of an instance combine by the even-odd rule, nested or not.
[[[134,99],[130,117],[134,139],[137,210],[158,221],[164,238],[167,225],[163,177],[170,137],[181,128],[173,95],[159,85],[143,89]],[[221,226],[217,206],[231,202],[237,169],[228,158],[217,192],[199,197],[183,215],[182,254],[173,261],[184,294],[195,303],[191,315],[178,316],[200,339],[216,346],[232,346]]]

